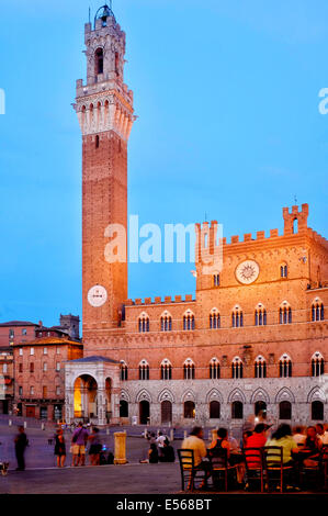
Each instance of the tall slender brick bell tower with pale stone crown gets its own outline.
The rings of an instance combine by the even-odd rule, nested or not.
[[[127,262],[109,261],[109,226],[127,231],[127,142],[135,120],[124,83],[125,33],[109,5],[84,27],[87,83],[77,81],[75,110],[82,132],[83,340],[120,324],[127,299]],[[126,238],[124,237],[125,245]]]

